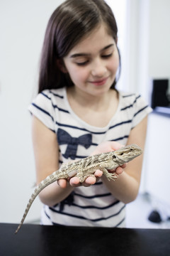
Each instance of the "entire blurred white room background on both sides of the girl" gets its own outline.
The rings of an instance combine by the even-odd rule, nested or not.
[[[47,21],[61,0],[0,1],[0,222],[18,223],[35,184],[28,105],[38,86]],[[108,0],[118,23],[122,74],[118,89],[140,92],[149,114],[142,183],[127,207],[128,228],[169,228],[170,1]],[[41,203],[26,222],[38,223]],[[151,223],[152,210],[160,214]]]

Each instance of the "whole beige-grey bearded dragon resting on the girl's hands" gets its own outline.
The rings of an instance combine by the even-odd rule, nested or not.
[[[83,183],[89,176],[94,176],[94,172],[97,169],[103,171],[103,175],[108,178],[108,181],[115,181],[115,178],[118,177],[117,174],[115,174],[115,172],[108,172],[108,170],[115,170],[118,166],[128,163],[128,161],[135,159],[135,157],[140,156],[140,154],[142,154],[142,149],[140,146],[131,144],[128,146],[123,146],[115,151],[95,154],[87,156],[86,158],[78,161],[71,161],[62,164],[59,170],[54,171],[52,174],[47,176],[47,178],[41,181],[35,188],[35,191],[32,193],[30,200],[28,201],[28,205],[26,206],[21,223],[18,225],[15,233],[18,233],[18,230],[20,230],[21,226],[23,225],[33,201],[38,196],[40,191],[42,191],[42,189],[44,189],[46,186],[49,186],[51,183],[59,180],[60,178],[67,179],[72,178],[73,176],[77,176],[80,183]]]

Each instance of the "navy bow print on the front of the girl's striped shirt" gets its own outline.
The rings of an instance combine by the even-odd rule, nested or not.
[[[68,144],[65,154],[63,155],[66,159],[69,157],[75,159],[77,155],[77,146],[84,146],[86,149],[91,146],[91,134],[84,134],[80,137],[72,137],[68,132],[63,129],[58,129],[57,140],[60,145]]]

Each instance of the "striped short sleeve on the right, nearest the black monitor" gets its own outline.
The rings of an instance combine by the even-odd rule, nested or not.
[[[132,115],[132,128],[139,124],[147,114],[152,112],[152,108],[147,105],[147,102],[141,95],[135,95],[133,104],[133,115]]]

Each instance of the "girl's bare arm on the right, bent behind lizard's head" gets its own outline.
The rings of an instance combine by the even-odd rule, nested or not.
[[[137,124],[130,132],[130,137],[127,144],[137,144],[142,149],[145,147],[145,138],[147,133],[147,117]],[[111,191],[115,198],[123,203],[134,201],[140,188],[140,177],[142,171],[143,154],[136,159],[130,161],[120,174],[116,181],[108,181],[105,176],[102,180]],[[116,172],[120,170],[116,170]],[[120,171],[121,172],[121,171]]]

